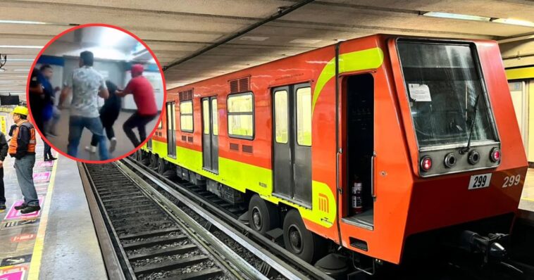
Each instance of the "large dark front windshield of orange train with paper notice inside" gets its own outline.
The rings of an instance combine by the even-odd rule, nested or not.
[[[472,46],[401,40],[397,46],[420,148],[467,144],[473,117],[471,142],[496,140]]]

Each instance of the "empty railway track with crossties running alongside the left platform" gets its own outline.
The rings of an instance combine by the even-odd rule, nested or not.
[[[123,169],[115,163],[85,165],[124,279],[262,278],[213,234]]]

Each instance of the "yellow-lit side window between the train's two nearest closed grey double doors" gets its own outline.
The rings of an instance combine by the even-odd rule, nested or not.
[[[228,135],[235,138],[254,137],[254,98],[252,92],[228,96]]]

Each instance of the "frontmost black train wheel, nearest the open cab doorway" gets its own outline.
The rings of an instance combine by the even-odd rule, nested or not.
[[[287,212],[284,219],[284,246],[287,250],[311,263],[316,255],[318,242],[316,243],[313,233],[304,226],[299,211],[292,209]]]

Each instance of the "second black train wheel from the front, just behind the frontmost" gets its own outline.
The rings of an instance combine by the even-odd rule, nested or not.
[[[267,231],[278,227],[276,206],[255,194],[249,202],[249,224],[260,234],[266,234]]]

